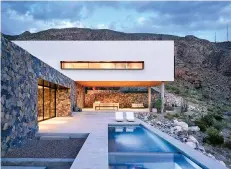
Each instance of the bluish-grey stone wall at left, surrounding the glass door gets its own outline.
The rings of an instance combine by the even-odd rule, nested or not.
[[[70,88],[71,108],[76,104],[76,85],[24,49],[1,38],[1,151],[4,155],[38,130],[39,78]]]

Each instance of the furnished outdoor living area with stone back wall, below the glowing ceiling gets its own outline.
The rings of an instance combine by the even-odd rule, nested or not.
[[[160,93],[151,90],[150,99],[154,103]],[[149,112],[148,87],[84,87],[77,85],[77,105],[82,111]]]

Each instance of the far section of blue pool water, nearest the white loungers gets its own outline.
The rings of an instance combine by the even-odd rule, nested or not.
[[[141,126],[109,127],[109,152],[177,152],[168,142]]]

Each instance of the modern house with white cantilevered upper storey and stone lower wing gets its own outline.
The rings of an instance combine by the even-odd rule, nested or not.
[[[1,71],[4,153],[33,136],[39,121],[83,108],[86,87],[148,87],[151,108],[151,87],[161,86],[164,103],[164,83],[174,80],[174,42],[2,38]],[[118,100],[97,101],[96,109],[120,106]]]

